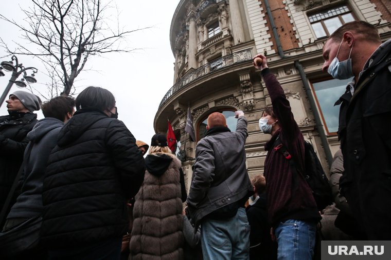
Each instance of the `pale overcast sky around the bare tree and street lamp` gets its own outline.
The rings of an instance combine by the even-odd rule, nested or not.
[[[80,92],[87,86],[98,86],[110,90],[117,102],[118,119],[123,121],[136,139],[150,143],[153,119],[163,96],[173,85],[174,56],[171,51],[169,32],[172,15],[179,0],[170,1],[134,1],[116,0],[120,25],[128,30],[153,26],[152,29],[131,34],[128,44],[131,48],[144,48],[133,53],[107,54],[104,57],[88,59],[87,68],[92,71],[81,72],[75,85]],[[24,18],[20,11],[32,5],[31,0],[2,1],[0,13],[21,21]],[[113,15],[116,15],[114,12]],[[114,19],[115,21],[115,19]],[[21,41],[21,32],[0,20],[0,35],[10,45],[12,41]],[[0,57],[6,55],[0,48]],[[25,67],[44,67],[37,58],[17,56]],[[1,61],[8,60],[3,58]],[[11,73],[0,77],[0,91],[3,93]],[[48,78],[43,73],[36,75],[37,81],[32,86],[40,92],[46,92]],[[10,93],[23,90],[13,85]],[[7,96],[8,97],[8,96]],[[0,107],[0,115],[7,113],[6,104]],[[43,118],[41,112],[38,119]]]

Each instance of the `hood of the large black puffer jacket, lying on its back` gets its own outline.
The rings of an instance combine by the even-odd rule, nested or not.
[[[74,142],[81,136],[91,125],[103,118],[109,118],[102,111],[78,110],[72,118],[61,129],[58,137],[58,146],[66,146]],[[116,120],[116,119],[112,119]]]

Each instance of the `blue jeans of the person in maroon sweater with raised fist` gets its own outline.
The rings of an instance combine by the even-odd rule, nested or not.
[[[278,260],[311,260],[314,255],[316,223],[288,219],[275,230]]]

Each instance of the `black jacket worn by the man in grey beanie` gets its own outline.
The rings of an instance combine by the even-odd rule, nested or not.
[[[37,122],[37,114],[33,113],[11,112],[0,116],[0,209],[21,167],[27,133]]]

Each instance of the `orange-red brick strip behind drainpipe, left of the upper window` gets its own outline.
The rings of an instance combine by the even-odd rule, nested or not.
[[[264,0],[258,0],[261,2],[263,8],[262,13],[265,14],[266,25],[269,27],[269,33],[272,36],[271,40],[273,42],[272,49],[277,51],[276,39],[273,34],[273,29],[270,24],[269,16],[266,12],[266,6]],[[282,0],[269,0],[270,10],[272,11],[272,16],[274,18],[274,24],[277,29],[277,33],[280,39],[282,50],[291,50],[298,48],[298,40],[296,39],[296,34],[293,30],[293,25],[290,23],[290,17],[288,16],[288,11],[285,10],[285,4],[282,4]]]

